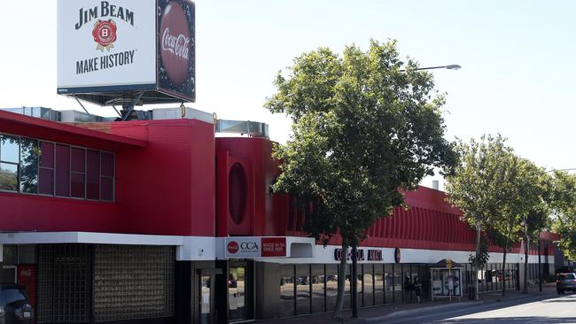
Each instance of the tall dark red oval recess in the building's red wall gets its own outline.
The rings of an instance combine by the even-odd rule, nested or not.
[[[244,167],[235,163],[228,175],[228,209],[236,224],[242,223],[246,210],[247,198],[246,174]]]

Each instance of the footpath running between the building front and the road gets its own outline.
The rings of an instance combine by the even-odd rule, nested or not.
[[[556,283],[546,283],[542,285],[542,291],[539,291],[538,285],[528,287],[528,294],[523,294],[518,290],[506,290],[506,297],[502,298],[502,291],[487,292],[480,295],[480,301],[471,301],[468,297],[462,297],[460,301],[427,301],[422,304],[409,303],[401,305],[382,305],[358,310],[358,319],[352,318],[351,311],[343,312],[344,320],[335,320],[332,318],[332,312],[321,312],[311,315],[302,315],[281,320],[258,320],[258,323],[282,323],[282,324],[334,324],[334,323],[370,323],[385,319],[393,319],[402,316],[416,315],[424,312],[440,311],[442,309],[458,307],[464,309],[479,304],[497,303],[505,300],[534,299],[544,295],[556,294]]]

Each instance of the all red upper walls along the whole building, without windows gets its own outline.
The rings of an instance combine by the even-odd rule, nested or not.
[[[188,119],[78,126],[0,111],[0,132],[115,152],[116,201],[0,192],[0,230],[305,235],[303,213],[294,210],[289,197],[269,191],[278,174],[269,140],[214,138],[212,123]],[[235,165],[241,172],[230,176]],[[245,192],[238,187],[243,183]],[[419,187],[407,192],[405,201],[409,209],[396,207],[393,215],[378,220],[362,245],[474,250],[474,231],[459,220],[461,213],[443,192]],[[244,217],[231,220],[230,208],[235,214],[244,208]],[[557,235],[542,238],[556,240]],[[330,243],[339,244],[339,236]],[[551,253],[550,245],[546,248]]]

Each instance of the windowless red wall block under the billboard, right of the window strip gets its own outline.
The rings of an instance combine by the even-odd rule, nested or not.
[[[199,120],[114,123],[111,132],[146,138],[116,155],[121,231],[213,236],[214,126]]]

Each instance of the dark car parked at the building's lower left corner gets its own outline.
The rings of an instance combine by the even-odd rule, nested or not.
[[[34,311],[24,286],[0,285],[0,324],[32,323]]]

